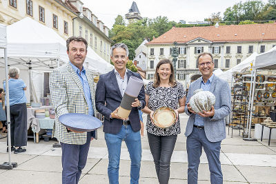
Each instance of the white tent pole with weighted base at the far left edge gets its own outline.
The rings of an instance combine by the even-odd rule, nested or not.
[[[7,48],[4,48],[4,57],[5,57],[5,69],[6,69],[6,110],[7,110],[7,123],[8,123],[8,153],[9,161],[4,162],[0,165],[1,170],[12,170],[13,167],[17,167],[17,163],[12,163],[12,149],[11,149],[11,139],[10,139],[10,90],[8,83],[8,57],[7,57]]]

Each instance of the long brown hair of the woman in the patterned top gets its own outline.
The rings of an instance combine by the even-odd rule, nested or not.
[[[160,77],[159,77],[159,74],[157,73],[157,70],[161,65],[167,64],[167,63],[170,64],[170,71],[172,71],[172,73],[170,74],[170,79],[168,83],[172,85],[172,87],[175,87],[175,85],[177,85],[177,81],[175,81],[175,70],[173,69],[172,62],[170,61],[170,59],[161,59],[155,69],[155,80],[152,85],[153,88],[157,88],[160,85]]]

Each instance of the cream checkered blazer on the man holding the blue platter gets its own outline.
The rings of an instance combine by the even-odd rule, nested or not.
[[[90,85],[90,93],[95,108],[94,81],[91,70],[86,70],[86,78]],[[88,104],[83,92],[83,86],[70,63],[56,68],[50,76],[50,94],[55,105],[55,125],[52,136],[61,143],[83,145],[86,143],[87,133],[68,132],[59,121],[59,116],[68,113],[88,114]]]

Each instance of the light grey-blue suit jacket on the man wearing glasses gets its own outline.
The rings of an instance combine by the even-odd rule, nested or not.
[[[188,90],[185,112],[190,117],[186,126],[186,136],[189,136],[192,133],[195,121],[195,114],[188,111],[187,103],[190,101],[190,97],[193,96],[193,92],[199,89],[200,86],[201,78],[191,83]],[[226,138],[224,118],[230,114],[231,94],[228,83],[222,79],[219,79],[217,76],[214,76],[214,79],[210,85],[210,92],[213,92],[216,98],[214,106],[215,115],[212,118],[204,118],[204,130],[206,137],[210,142],[217,142]]]

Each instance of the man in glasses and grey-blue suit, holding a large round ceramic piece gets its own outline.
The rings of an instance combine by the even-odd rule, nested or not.
[[[230,88],[226,81],[213,74],[213,56],[204,52],[197,57],[199,72],[202,76],[190,84],[186,101],[186,114],[190,117],[186,126],[186,148],[188,153],[188,183],[197,183],[198,167],[202,147],[206,153],[210,181],[214,184],[223,183],[221,164],[219,161],[221,141],[226,137],[224,118],[230,114]],[[209,112],[195,114],[190,108],[190,97],[197,89],[210,91],[215,95],[215,107]]]

